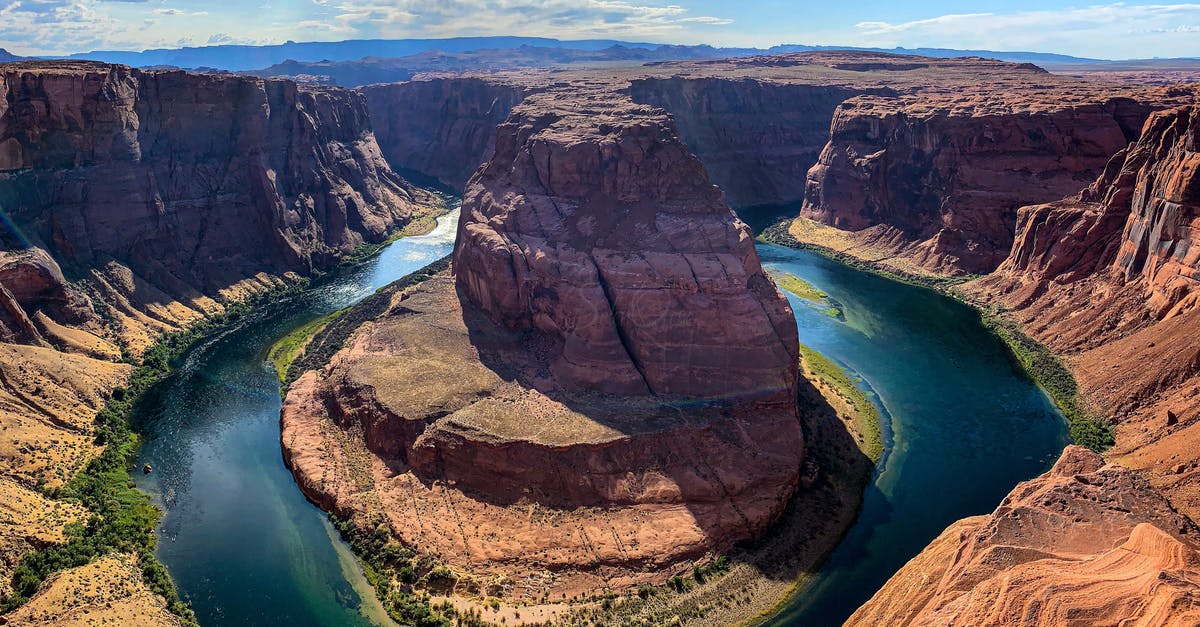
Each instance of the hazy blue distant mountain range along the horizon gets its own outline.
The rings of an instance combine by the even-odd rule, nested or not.
[[[1066,54],[1037,52],[965,50],[954,48],[860,48],[847,46],[784,44],[772,48],[716,48],[712,46],[665,46],[660,43],[626,42],[617,40],[554,40],[548,37],[452,37],[421,40],[349,40],[338,42],[293,42],[272,46],[204,46],[194,48],[156,48],[142,52],[94,50],[56,59],[90,59],[137,67],[210,68],[230,72],[253,72],[262,76],[294,76],[305,73],[319,64],[330,67],[340,62],[361,62],[364,67],[353,70],[361,74],[349,80],[368,79],[372,72],[386,68],[386,76],[400,76],[403,71],[432,71],[437,64],[431,59],[458,68],[497,68],[509,62],[509,67],[529,67],[560,62],[602,61],[662,61],[680,59],[716,59],[756,54],[782,54],[811,50],[865,50],[920,56],[985,56],[1013,62],[1031,62],[1046,68],[1056,66],[1084,66],[1108,64],[1162,64],[1200,62],[1198,59],[1105,61],[1070,56]],[[500,50],[515,50],[500,53]],[[503,59],[508,61],[503,61]],[[18,60],[20,56],[0,49],[0,62]],[[403,64],[392,62],[404,59]],[[389,61],[391,60],[391,61]],[[481,64],[474,66],[472,64]],[[406,65],[407,64],[407,65]],[[413,66],[413,67],[408,67]],[[335,68],[346,74],[347,67]],[[332,71],[332,70],[331,70]],[[403,73],[401,71],[400,73]],[[398,78],[394,78],[398,79]],[[336,82],[336,80],[335,80]]]

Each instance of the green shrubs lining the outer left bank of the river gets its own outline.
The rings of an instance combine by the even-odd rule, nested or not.
[[[287,291],[302,289],[305,282]],[[270,294],[278,297],[280,292]],[[161,381],[178,364],[179,358],[196,344],[250,314],[254,304],[265,299],[229,304],[226,312],[212,316],[186,330],[169,333],[145,350],[133,369],[130,384],[116,388],[95,419],[96,443],[104,446],[61,488],[49,492],[53,498],[73,501],[91,512],[86,522],[68,525],[62,544],[49,545],[22,559],[13,571],[13,592],[0,599],[0,611],[10,611],[29,601],[52,574],[90,563],[114,553],[137,555],[142,578],[154,592],[167,601],[168,609],[184,625],[196,625],[192,609],[175,591],[167,569],[155,557],[157,538],[154,527],[161,512],[150,497],[133,485],[130,476],[138,449],[134,410],[143,393]],[[126,362],[133,359],[126,353]]]

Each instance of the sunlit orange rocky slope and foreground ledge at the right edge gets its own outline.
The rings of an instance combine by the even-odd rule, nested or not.
[[[1198,149],[1200,108],[1152,114],[1081,193],[1021,208],[1010,256],[962,288],[1067,356],[1118,420],[1112,464],[1068,449],[947,530],[851,623],[1200,621]]]

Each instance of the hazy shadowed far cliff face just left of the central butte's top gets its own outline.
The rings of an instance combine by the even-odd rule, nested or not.
[[[532,88],[486,78],[367,85],[376,137],[396,168],[462,190],[492,156],[496,127]]]

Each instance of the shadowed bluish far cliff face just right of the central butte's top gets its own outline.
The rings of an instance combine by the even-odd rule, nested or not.
[[[728,203],[746,208],[800,201],[838,106],[890,89],[647,77],[631,80],[629,91],[637,102],[672,112],[680,137]]]

